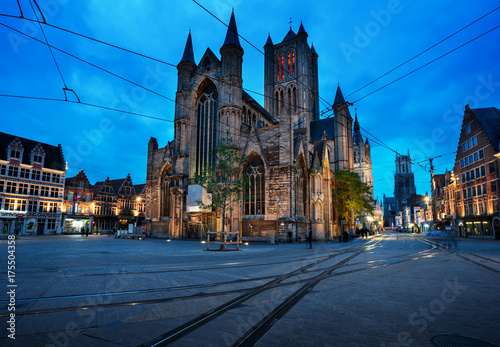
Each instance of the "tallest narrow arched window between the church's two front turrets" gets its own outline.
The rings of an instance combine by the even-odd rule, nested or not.
[[[214,164],[218,112],[217,88],[208,81],[196,103],[196,172]]]

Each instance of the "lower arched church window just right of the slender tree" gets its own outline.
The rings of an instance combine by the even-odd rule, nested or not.
[[[243,173],[247,176],[245,187],[245,214],[266,213],[266,177],[264,163],[256,154],[248,158]]]

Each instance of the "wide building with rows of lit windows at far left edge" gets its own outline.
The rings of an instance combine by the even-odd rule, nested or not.
[[[60,233],[65,175],[61,145],[0,133],[2,234]]]

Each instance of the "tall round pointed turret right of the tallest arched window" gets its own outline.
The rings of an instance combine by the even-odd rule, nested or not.
[[[233,11],[226,39],[220,49],[222,68],[219,93],[219,145],[229,138],[232,139],[233,143],[240,143],[239,128],[242,121],[241,106],[243,105],[243,53]]]

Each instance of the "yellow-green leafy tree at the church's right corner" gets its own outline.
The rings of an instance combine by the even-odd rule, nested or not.
[[[332,192],[333,204],[340,219],[352,222],[361,214],[373,214],[370,187],[361,182],[359,175],[347,169],[335,171],[335,188]]]

